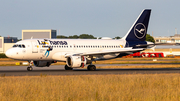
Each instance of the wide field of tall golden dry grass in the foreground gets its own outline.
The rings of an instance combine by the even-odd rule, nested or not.
[[[0,100],[179,101],[180,74],[0,77]]]

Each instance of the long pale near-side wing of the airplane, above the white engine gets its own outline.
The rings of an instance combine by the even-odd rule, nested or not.
[[[68,57],[70,55],[87,56],[87,55],[105,55],[105,54],[112,54],[112,53],[128,53],[128,52],[138,52],[142,50],[144,50],[144,48],[133,49],[131,47],[131,48],[122,48],[122,49],[114,49],[114,50],[99,50],[99,51],[92,51],[92,52],[67,54],[65,57]]]

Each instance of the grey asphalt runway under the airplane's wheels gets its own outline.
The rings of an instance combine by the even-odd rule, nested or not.
[[[127,66],[127,65],[155,65],[155,64],[100,64],[96,66]],[[106,74],[162,74],[180,73],[180,68],[120,68],[97,69],[88,71],[86,68],[75,68],[65,71],[63,65],[50,67],[34,67],[33,71],[27,71],[27,66],[0,66],[0,76],[40,76],[40,75],[106,75]]]

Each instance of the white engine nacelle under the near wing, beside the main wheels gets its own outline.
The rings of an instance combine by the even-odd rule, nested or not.
[[[66,60],[68,67],[84,67],[86,65],[87,59],[84,56],[70,56]]]

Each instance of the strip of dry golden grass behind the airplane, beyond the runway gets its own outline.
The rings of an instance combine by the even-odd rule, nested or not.
[[[156,64],[156,63],[180,63],[179,58],[158,58],[157,61],[153,61],[153,58],[117,58],[105,61],[96,61],[93,64]],[[17,61],[12,59],[0,59],[0,66],[14,66],[16,62],[26,62]],[[65,62],[57,62],[52,65],[65,65]]]

